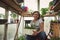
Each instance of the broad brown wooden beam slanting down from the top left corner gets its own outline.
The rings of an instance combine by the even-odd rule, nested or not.
[[[19,7],[19,5],[14,3],[13,0],[0,0],[0,1],[5,3],[6,5],[8,5],[9,7],[12,7],[14,10],[16,10],[18,12],[22,12],[22,9]]]

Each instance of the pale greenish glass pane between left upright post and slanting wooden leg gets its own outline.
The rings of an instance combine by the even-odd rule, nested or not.
[[[17,24],[8,24],[7,40],[14,40]]]

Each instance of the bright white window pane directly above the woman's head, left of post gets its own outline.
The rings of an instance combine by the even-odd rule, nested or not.
[[[24,0],[24,6],[27,6],[29,11],[38,10],[37,0]]]

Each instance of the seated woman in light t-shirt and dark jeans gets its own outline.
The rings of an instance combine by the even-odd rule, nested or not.
[[[27,40],[45,40],[46,39],[46,34],[44,32],[43,28],[43,21],[42,18],[40,18],[40,13],[38,11],[33,12],[33,17],[34,20],[31,21],[31,25],[33,25],[36,30],[33,31],[32,35],[27,35],[26,39]]]

